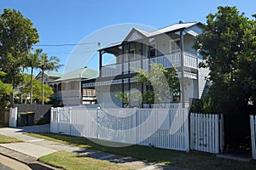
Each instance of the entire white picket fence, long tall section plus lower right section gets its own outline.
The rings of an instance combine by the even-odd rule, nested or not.
[[[223,115],[192,113],[189,117],[187,108],[52,108],[50,132],[171,150],[214,154],[224,150]]]

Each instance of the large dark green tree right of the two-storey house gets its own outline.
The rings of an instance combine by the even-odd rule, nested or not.
[[[218,7],[216,14],[208,14],[202,34],[196,37],[194,48],[206,59],[201,65],[211,71],[213,103],[223,112],[244,110],[255,93],[254,37],[255,21],[236,7]]]

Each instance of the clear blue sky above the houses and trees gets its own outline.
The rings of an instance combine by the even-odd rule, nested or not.
[[[106,26],[123,23],[137,23],[154,28],[170,26],[179,20],[205,23],[207,14],[215,13],[218,6],[236,6],[250,17],[251,14],[256,14],[254,4],[253,0],[2,0],[0,9],[1,12],[3,8],[20,10],[38,29],[40,37],[38,45],[48,45],[89,40],[101,42],[101,37],[90,37],[90,35]],[[114,40],[120,41],[129,29],[119,29],[119,37],[115,37]],[[84,37],[90,38],[84,39]],[[57,56],[61,59],[61,64],[65,65],[70,60],[74,61],[73,52],[76,51],[75,55],[79,55],[79,60],[76,59],[69,66],[67,70],[71,71],[83,65],[97,69],[96,59],[90,62],[86,59],[91,58],[88,55],[96,54],[96,46],[96,43],[80,45],[77,51],[75,46],[35,48],[43,48],[44,52]],[[62,68],[61,71],[63,70],[65,69]]]

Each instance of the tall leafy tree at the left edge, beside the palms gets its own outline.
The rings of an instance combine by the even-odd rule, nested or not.
[[[12,88],[17,84],[28,49],[38,41],[38,31],[32,27],[31,20],[15,9],[3,9],[0,15],[0,68],[7,73],[3,81],[12,84]],[[13,106],[13,93],[10,103]]]

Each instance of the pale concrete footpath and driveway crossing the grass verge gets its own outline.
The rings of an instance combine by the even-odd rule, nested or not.
[[[0,134],[15,137],[25,141],[25,143],[12,143],[12,144],[0,144],[0,154],[8,156],[9,158],[20,161],[26,164],[32,169],[59,169],[45,165],[38,160],[41,156],[46,156],[55,151],[65,150],[68,152],[77,153],[79,155],[96,158],[99,160],[109,161],[117,163],[119,165],[129,167],[131,169],[170,169],[170,170],[182,170],[183,168],[166,166],[163,164],[155,164],[148,161],[139,161],[131,157],[116,156],[109,153],[104,153],[96,150],[80,149],[67,144],[59,144],[44,139],[38,139],[27,136],[24,133],[44,133],[49,132],[49,124],[43,126],[31,126],[31,127],[18,127],[0,128]],[[1,162],[1,161],[0,161]]]

